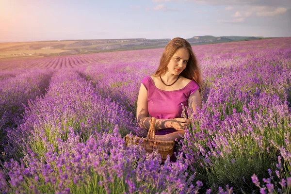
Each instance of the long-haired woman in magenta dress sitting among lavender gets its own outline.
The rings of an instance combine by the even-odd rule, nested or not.
[[[156,140],[180,140],[191,122],[181,118],[182,107],[192,107],[194,113],[200,108],[201,86],[201,73],[191,45],[183,38],[172,39],[162,53],[157,71],[142,80],[136,114],[140,127],[149,129],[150,115],[156,117]]]

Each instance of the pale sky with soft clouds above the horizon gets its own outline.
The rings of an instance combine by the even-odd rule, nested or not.
[[[0,0],[0,42],[291,36],[291,0]]]

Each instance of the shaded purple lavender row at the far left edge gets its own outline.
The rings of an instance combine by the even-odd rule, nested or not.
[[[33,71],[22,72],[14,76],[11,72],[5,72],[0,81],[0,151],[7,144],[5,139],[6,128],[16,127],[22,121],[22,113],[29,99],[45,93],[49,86],[49,78],[52,72]],[[5,76],[6,75],[6,76]]]

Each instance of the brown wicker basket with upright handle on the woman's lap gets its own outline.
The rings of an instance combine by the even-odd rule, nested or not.
[[[126,135],[126,146],[129,144],[140,144],[143,148],[145,148],[147,153],[152,153],[157,149],[158,153],[161,154],[162,160],[164,161],[167,158],[167,155],[170,155],[170,157],[172,156],[175,142],[155,140],[155,124],[156,118],[152,117],[146,138]]]

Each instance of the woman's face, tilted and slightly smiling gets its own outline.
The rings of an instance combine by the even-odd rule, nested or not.
[[[167,66],[168,71],[170,71],[174,75],[179,75],[186,68],[189,58],[190,54],[187,49],[185,48],[178,49],[172,56]]]

